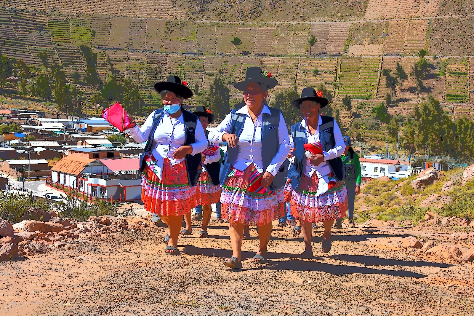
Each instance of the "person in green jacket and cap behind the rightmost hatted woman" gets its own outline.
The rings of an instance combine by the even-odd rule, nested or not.
[[[349,216],[349,227],[355,227],[354,225],[354,200],[356,195],[360,194],[360,184],[362,182],[362,171],[360,169],[359,155],[354,152],[351,147],[351,139],[349,136],[344,136],[344,144],[346,144],[346,150],[341,156],[346,168],[346,182],[347,188],[347,206]],[[342,228],[342,220],[336,221],[335,228]]]

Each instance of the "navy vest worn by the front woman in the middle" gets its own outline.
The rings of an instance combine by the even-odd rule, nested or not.
[[[280,125],[281,111],[268,107],[270,115],[264,113],[262,115],[262,160],[264,170],[270,165],[280,148],[280,139],[278,135],[278,127]],[[232,110],[232,129],[230,134],[236,134],[237,138],[244,129],[244,122],[247,118],[246,114],[237,113],[237,109]],[[227,152],[224,156],[223,166],[220,168],[220,184],[223,185],[229,173],[229,169],[233,166],[238,157],[238,148],[227,147]],[[339,159],[340,160],[340,159]],[[278,170],[278,173],[273,177],[273,182],[268,186],[270,190],[278,190],[285,185],[285,177],[288,172],[288,160],[283,162]]]

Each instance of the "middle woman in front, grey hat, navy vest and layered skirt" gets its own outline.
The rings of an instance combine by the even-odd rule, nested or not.
[[[221,167],[222,218],[229,221],[232,257],[224,265],[242,268],[244,225],[258,226],[260,245],[254,263],[265,263],[272,221],[283,216],[283,165],[290,151],[288,129],[282,112],[265,105],[268,89],[278,84],[271,74],[249,67],[246,80],[234,84],[243,91],[245,106],[234,109],[209,133],[210,141],[227,141]]]

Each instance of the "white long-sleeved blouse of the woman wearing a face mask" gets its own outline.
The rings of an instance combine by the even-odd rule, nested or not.
[[[129,130],[130,135],[137,143],[144,143],[148,140],[153,127],[155,112],[156,111],[148,115],[141,128],[135,126]],[[195,137],[196,142],[191,144],[191,155],[198,154],[205,150],[208,144],[206,135],[204,134],[204,129],[199,120],[196,124]],[[178,164],[184,160],[184,158],[173,159],[173,154],[176,149],[184,144],[184,119],[182,114],[179,118],[173,119],[168,112],[164,112],[152,139],[152,154],[156,159],[156,170],[158,171],[157,176],[161,179],[164,158],[168,158],[172,165]]]

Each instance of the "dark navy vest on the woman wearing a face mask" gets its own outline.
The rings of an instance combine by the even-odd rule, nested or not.
[[[184,120],[184,146],[191,145],[196,142],[196,124],[199,118],[188,112],[186,110],[182,111],[182,118]],[[148,141],[146,142],[145,149],[140,156],[140,169],[139,172],[143,172],[146,167],[145,161],[143,158],[145,155],[153,149],[153,135],[155,134],[155,130],[158,127],[158,123],[163,118],[163,109],[158,109],[155,112],[155,116],[153,117],[153,126],[150,131],[150,136],[148,136]],[[201,153],[192,155],[186,155],[184,157],[184,164],[186,165],[186,170],[188,172],[188,181],[191,186],[195,186],[198,184],[199,176],[201,176]]]

